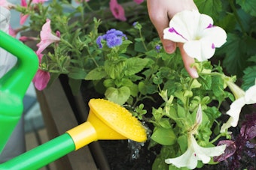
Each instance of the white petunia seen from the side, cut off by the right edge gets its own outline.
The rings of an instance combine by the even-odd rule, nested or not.
[[[251,86],[247,91],[242,91],[242,89],[234,83],[228,83],[227,85],[233,92],[236,100],[230,105],[230,109],[227,111],[227,115],[230,115],[230,118],[222,125],[221,133],[224,133],[229,127],[237,126],[241,109],[245,104],[256,103],[256,85]]]

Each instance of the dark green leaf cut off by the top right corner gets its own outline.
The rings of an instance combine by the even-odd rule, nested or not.
[[[251,16],[256,16],[256,0],[236,0],[236,3]]]

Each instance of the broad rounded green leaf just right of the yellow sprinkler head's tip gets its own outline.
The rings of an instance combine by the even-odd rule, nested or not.
[[[173,145],[176,142],[176,136],[173,130],[163,127],[156,127],[156,130],[154,130],[151,139],[160,145]]]

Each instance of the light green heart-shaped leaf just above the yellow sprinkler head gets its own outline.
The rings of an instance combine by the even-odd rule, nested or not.
[[[122,106],[130,97],[130,88],[126,86],[121,88],[110,87],[105,91],[105,97],[107,97],[108,100]]]

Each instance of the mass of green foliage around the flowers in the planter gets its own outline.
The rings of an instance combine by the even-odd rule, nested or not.
[[[126,106],[134,116],[153,124],[149,148],[162,146],[153,169],[177,169],[164,160],[186,151],[187,132],[193,127],[200,106],[203,121],[196,135],[198,144],[207,148],[215,146],[221,137],[230,139],[229,133],[220,133],[223,122],[218,118],[221,104],[234,100],[226,88],[227,81],[235,82],[236,77],[225,76],[220,64],[213,66],[204,61],[194,64],[200,77],[190,78],[180,52],[169,55],[160,46],[159,37],[145,15],[145,3],[140,5],[142,14],[133,13],[127,22],[117,22],[109,17],[110,11],[105,11],[105,2],[101,2],[102,6],[96,5],[96,1],[82,2],[74,7],[69,1],[53,0],[48,5],[38,4],[36,10],[17,7],[31,17],[29,27],[24,29],[40,31],[50,18],[53,32],[61,34],[58,45],[50,46],[41,61],[41,69],[51,73],[51,82],[66,74],[77,93],[81,82],[87,80],[108,100]],[[212,16],[215,25],[228,33],[227,43],[217,54],[224,59],[224,68],[231,75],[242,77],[243,88],[254,85],[256,1],[195,3],[201,13]],[[128,6],[126,11],[133,11],[133,7]],[[122,37],[120,46],[109,48],[102,40],[100,47],[97,38],[111,28],[123,31],[126,37]],[[215,164],[213,160],[210,163]],[[202,166],[200,162],[197,167]]]

